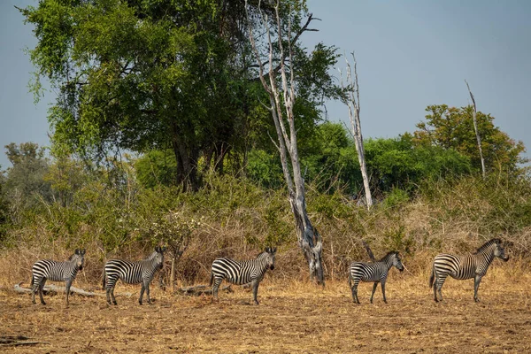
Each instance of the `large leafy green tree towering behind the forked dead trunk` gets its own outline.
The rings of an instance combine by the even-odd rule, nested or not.
[[[223,172],[233,158],[241,170],[257,126],[250,119],[260,117],[246,36],[255,19],[244,10],[217,0],[42,0],[21,9],[38,40],[29,51],[33,89],[47,77],[59,92],[49,116],[54,149],[100,162],[120,150],[170,149],[185,189],[198,187],[201,161]],[[312,128],[323,92],[334,91],[335,49],[296,50],[304,56],[293,65],[307,77],[300,112],[310,117],[300,128]]]

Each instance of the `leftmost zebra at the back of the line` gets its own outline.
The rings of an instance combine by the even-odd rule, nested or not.
[[[78,271],[83,269],[85,264],[85,250],[75,250],[73,255],[66,262],[57,262],[50,259],[42,259],[35,262],[32,267],[31,301],[35,303],[35,293],[39,292],[41,304],[46,304],[42,298],[42,289],[47,280],[66,282],[66,306],[68,306],[68,296],[70,287]]]

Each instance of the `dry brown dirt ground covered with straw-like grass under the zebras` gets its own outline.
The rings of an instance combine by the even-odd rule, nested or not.
[[[443,303],[435,304],[427,275],[393,272],[389,304],[371,284],[361,284],[362,304],[351,302],[346,281],[325,289],[308,282],[266,278],[258,291],[235,287],[210,296],[178,296],[153,286],[154,304],[137,303],[140,287],[119,283],[118,306],[103,297],[29,295],[0,289],[0,337],[23,335],[31,346],[0,346],[11,353],[419,353],[531,352],[531,277],[507,277],[493,270],[481,283],[481,303],[473,302],[473,281],[448,280]],[[27,285],[27,284],[26,284]],[[60,285],[60,284],[58,284]],[[77,287],[84,284],[76,282]],[[85,285],[88,287],[88,285]],[[86,289],[86,288],[84,288]],[[103,294],[102,290],[97,290]]]

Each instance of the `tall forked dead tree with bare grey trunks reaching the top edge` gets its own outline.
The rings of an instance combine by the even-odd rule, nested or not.
[[[308,28],[308,25],[313,18],[312,14],[310,14],[304,26],[294,35],[292,33],[291,17],[289,16],[288,33],[284,33],[285,27],[281,23],[279,9],[280,2],[277,0],[274,5],[275,18],[272,22],[273,28],[269,27],[268,16],[261,11],[260,6],[261,3],[258,1],[259,20],[265,29],[266,47],[268,48],[265,62],[262,61],[251,26],[249,26],[250,44],[258,63],[260,81],[269,95],[269,105],[266,108],[271,112],[277,133],[278,145],[276,143],[275,145],[281,155],[282,172],[288,187],[291,211],[295,217],[299,246],[308,262],[311,278],[324,286],[322,238],[317,229],[312,226],[312,222],[306,212],[304,179],[296,144],[295,116],[293,114],[293,106],[296,100],[296,82],[293,70],[290,70],[291,68],[286,64],[287,60],[289,64],[293,63],[293,46],[304,31],[312,30]],[[249,10],[247,1],[245,7]],[[249,12],[247,13],[247,18],[250,21]],[[276,42],[273,42],[272,35],[276,36]],[[292,37],[292,35],[294,36]],[[287,48],[284,48],[285,45],[287,45]],[[278,50],[279,58],[273,58],[273,48]],[[280,63],[275,65],[277,61]],[[267,74],[266,68],[269,69]],[[280,78],[278,77],[279,75]]]

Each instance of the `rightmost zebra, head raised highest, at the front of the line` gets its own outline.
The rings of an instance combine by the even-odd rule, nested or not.
[[[478,289],[481,278],[487,273],[490,263],[496,257],[505,262],[509,260],[509,256],[505,255],[504,242],[499,238],[493,238],[483,243],[473,254],[465,256],[440,254],[435,256],[432,273],[429,277],[429,287],[434,289],[435,302],[443,301],[441,289],[443,289],[444,281],[448,275],[460,281],[473,278],[473,299],[476,303],[479,302]],[[441,297],[440,300],[437,299],[437,292]]]

